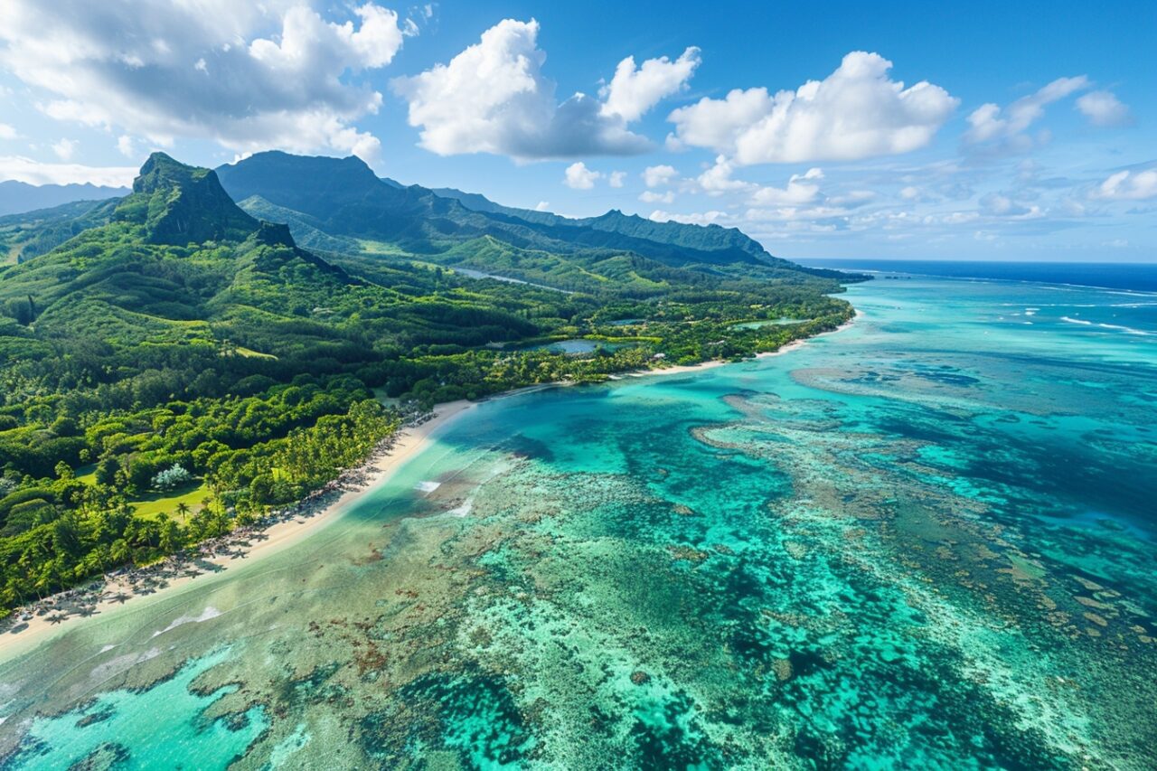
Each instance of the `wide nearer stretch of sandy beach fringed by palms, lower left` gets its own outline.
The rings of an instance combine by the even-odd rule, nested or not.
[[[430,443],[435,432],[450,425],[454,420],[460,418],[476,406],[478,406],[477,402],[469,402],[466,399],[436,405],[433,410],[433,418],[420,425],[400,429],[389,450],[377,453],[370,457],[366,465],[355,472],[354,476],[358,478],[356,484],[345,485],[336,499],[327,500],[316,512],[290,516],[267,528],[263,528],[253,534],[258,537],[237,537],[236,539],[245,542],[244,546],[233,548],[197,559],[196,564],[199,567],[199,574],[206,577],[220,574],[221,571],[228,570],[231,565],[243,559],[246,563],[252,563],[253,560],[287,549],[317,533],[337,520],[342,512],[347,511],[352,504],[356,502],[368,491],[384,484],[406,461],[421,453]],[[150,568],[142,570],[149,571]],[[0,633],[0,659],[7,659],[32,648],[50,637],[66,632],[87,617],[115,608],[121,608],[130,603],[138,604],[148,600],[156,601],[163,599],[189,585],[194,578],[194,575],[185,573],[172,577],[165,575],[163,586],[148,594],[139,594],[126,575],[109,575],[104,579],[102,599],[95,605],[89,607],[91,612],[87,612],[86,615],[72,614],[64,619],[59,619],[57,614],[53,612],[36,615],[25,622],[17,623],[9,631]],[[101,580],[100,578],[94,579],[97,583]]]

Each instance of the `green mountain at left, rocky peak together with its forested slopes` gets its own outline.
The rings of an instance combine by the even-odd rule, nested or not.
[[[309,350],[302,366],[318,346],[345,345],[336,330],[280,320],[346,302],[364,282],[243,212],[212,170],[156,153],[128,196],[87,214],[93,227],[0,273],[25,352],[91,344],[89,357],[105,351],[131,375],[139,361],[123,357],[145,344],[191,357],[227,339],[275,357]]]

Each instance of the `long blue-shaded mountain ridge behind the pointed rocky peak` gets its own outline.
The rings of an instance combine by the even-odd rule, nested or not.
[[[324,234],[384,243],[415,255],[439,255],[486,236],[514,249],[578,255],[582,259],[603,259],[613,251],[673,267],[756,267],[761,274],[786,280],[838,276],[772,257],[735,228],[653,222],[618,211],[572,220],[500,206],[451,189],[439,194],[420,185],[398,186],[378,178],[353,156],[303,157],[268,152],[216,171],[221,184],[244,208],[285,210],[281,216],[302,237]]]

